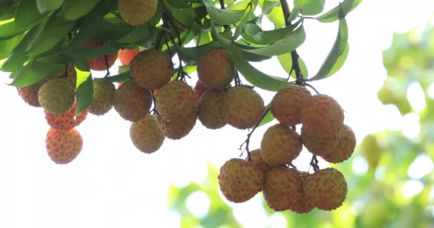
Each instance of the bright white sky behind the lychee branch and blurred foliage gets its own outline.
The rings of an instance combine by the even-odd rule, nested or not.
[[[328,8],[337,2],[328,1]],[[386,77],[381,54],[393,31],[423,25],[432,9],[430,0],[365,0],[348,15],[348,60],[336,76],[313,86],[338,100],[359,142],[370,132],[405,127],[398,111],[383,107],[376,97]],[[336,23],[306,20],[308,38],[298,52],[311,74],[333,45],[336,29]],[[283,75],[275,64],[257,66]],[[77,128],[84,138],[81,154],[69,165],[55,165],[46,155],[49,126],[43,110],[26,105],[0,75],[0,227],[178,227],[178,215],[167,210],[169,183],[203,182],[206,163],[221,167],[239,155],[237,148],[246,139],[246,131],[205,130],[198,121],[188,137],[166,140],[160,150],[145,155],[131,143],[130,123],[111,110],[102,118],[88,115]],[[263,95],[266,102],[271,100],[272,94]],[[253,135],[251,148],[258,147],[265,130]],[[302,169],[308,167],[303,157],[310,156],[304,152],[303,164],[296,162]],[[197,200],[203,195],[194,197],[188,204],[206,209],[206,200]],[[246,227],[285,224],[278,216],[268,219],[258,197],[231,206]]]

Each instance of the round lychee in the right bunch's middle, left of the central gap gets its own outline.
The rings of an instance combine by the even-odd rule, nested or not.
[[[261,157],[268,165],[286,165],[300,155],[303,145],[295,130],[283,124],[271,126],[261,140]]]

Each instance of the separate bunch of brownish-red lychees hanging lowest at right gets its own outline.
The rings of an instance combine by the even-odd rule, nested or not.
[[[271,101],[278,124],[266,130],[261,147],[246,159],[228,160],[220,170],[221,192],[231,202],[245,202],[258,192],[271,209],[311,212],[315,207],[332,210],[345,200],[347,183],[333,167],[301,172],[292,164],[304,147],[314,156],[332,163],[353,153],[355,135],[343,124],[340,105],[328,95],[311,95],[304,86],[279,90]],[[296,125],[301,124],[301,133]],[[315,167],[317,165],[317,167]]]

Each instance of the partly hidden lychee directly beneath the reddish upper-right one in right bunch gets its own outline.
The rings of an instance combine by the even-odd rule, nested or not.
[[[325,156],[333,152],[339,140],[338,135],[316,135],[306,130],[305,126],[301,127],[301,141],[306,149],[313,155]]]

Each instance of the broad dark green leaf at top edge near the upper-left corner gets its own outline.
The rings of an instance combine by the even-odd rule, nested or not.
[[[39,24],[44,15],[39,14],[36,1],[21,1],[15,13],[15,31],[26,30]]]

